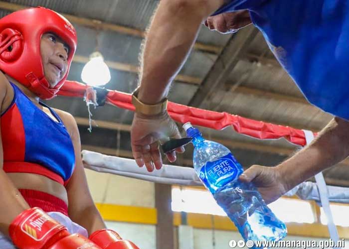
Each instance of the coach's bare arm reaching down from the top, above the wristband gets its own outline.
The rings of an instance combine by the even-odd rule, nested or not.
[[[146,38],[142,56],[141,88],[146,104],[159,103],[192,47],[202,21],[225,0],[162,0]]]

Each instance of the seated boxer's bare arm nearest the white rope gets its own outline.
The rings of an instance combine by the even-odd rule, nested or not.
[[[91,197],[84,166],[81,158],[81,143],[78,126],[75,119],[65,113],[64,124],[66,125],[75,150],[75,169],[69,183],[66,186],[68,193],[68,213],[75,223],[87,229],[88,234],[96,230],[106,228]]]

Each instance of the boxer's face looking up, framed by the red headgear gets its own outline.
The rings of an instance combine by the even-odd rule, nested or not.
[[[40,53],[45,78],[53,88],[67,73],[69,47],[59,36],[44,33],[40,41]]]

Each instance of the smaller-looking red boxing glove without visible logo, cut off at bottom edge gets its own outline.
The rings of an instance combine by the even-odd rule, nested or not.
[[[118,233],[110,229],[96,231],[89,239],[102,249],[139,249],[132,242],[121,239]]]

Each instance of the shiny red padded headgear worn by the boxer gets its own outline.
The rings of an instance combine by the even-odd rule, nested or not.
[[[46,32],[58,35],[69,46],[68,70],[54,88],[44,76],[40,39]],[[52,99],[63,85],[77,45],[73,25],[57,12],[44,8],[15,11],[0,19],[0,70],[41,99]]]

